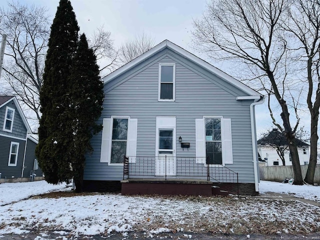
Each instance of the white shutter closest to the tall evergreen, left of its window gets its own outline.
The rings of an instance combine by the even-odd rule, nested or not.
[[[111,118],[103,118],[100,162],[109,162],[111,140]]]

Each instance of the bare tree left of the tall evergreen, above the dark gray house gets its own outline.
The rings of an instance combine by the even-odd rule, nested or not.
[[[39,91],[49,33],[47,9],[8,3],[0,9],[0,34],[7,34],[3,78],[9,90],[39,119]],[[4,83],[2,83],[4,85]]]

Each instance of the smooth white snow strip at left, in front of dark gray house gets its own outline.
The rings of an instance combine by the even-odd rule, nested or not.
[[[0,184],[0,205],[25,199],[32,195],[65,188],[65,183],[53,185],[46,181],[28,181]]]

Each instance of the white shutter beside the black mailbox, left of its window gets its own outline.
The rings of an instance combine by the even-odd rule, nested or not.
[[[195,118],[195,156],[196,163],[205,163],[203,118]]]

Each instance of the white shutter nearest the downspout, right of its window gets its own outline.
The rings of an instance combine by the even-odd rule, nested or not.
[[[222,161],[224,164],[232,164],[232,137],[231,137],[231,119],[222,118]]]

